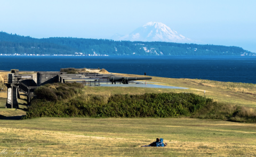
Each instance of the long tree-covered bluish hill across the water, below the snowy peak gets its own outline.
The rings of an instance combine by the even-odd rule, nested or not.
[[[130,42],[70,37],[32,38],[0,32],[0,55],[254,55],[236,46]]]

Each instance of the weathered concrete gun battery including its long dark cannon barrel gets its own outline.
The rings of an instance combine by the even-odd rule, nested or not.
[[[98,70],[98,69],[97,69]],[[68,72],[79,73],[68,74]],[[83,72],[84,69],[65,68],[60,71],[27,71],[20,72],[12,69],[8,78],[4,81],[7,87],[6,108],[19,108],[19,92],[27,95],[27,104],[30,104],[31,97],[35,96],[35,89],[45,84],[54,82],[78,82],[85,86],[99,86],[100,84],[129,84],[131,80],[151,78],[116,77],[112,74],[99,74],[96,72]]]

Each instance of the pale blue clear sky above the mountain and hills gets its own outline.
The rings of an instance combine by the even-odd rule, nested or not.
[[[34,38],[110,39],[153,21],[199,44],[256,53],[255,0],[0,0],[0,31]]]

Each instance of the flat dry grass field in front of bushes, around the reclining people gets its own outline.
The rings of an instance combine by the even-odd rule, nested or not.
[[[255,156],[256,125],[185,118],[0,120],[0,148],[23,156]],[[161,137],[167,147],[140,147]],[[33,150],[28,152],[28,147]],[[31,150],[30,148],[30,150]],[[3,155],[3,156],[13,156]],[[19,155],[22,156],[22,155]]]

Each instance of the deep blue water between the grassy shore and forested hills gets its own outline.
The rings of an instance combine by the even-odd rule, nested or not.
[[[110,72],[256,84],[256,57],[245,56],[0,56],[0,70],[59,71],[104,68]]]

